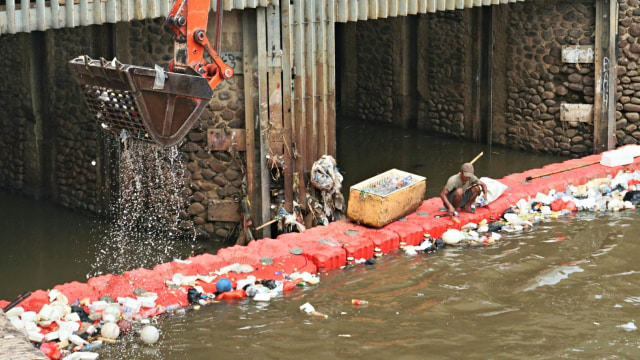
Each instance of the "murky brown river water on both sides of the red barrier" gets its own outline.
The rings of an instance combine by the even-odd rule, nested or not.
[[[460,163],[481,151],[476,173],[492,178],[564,160],[339,123],[345,190],[398,168],[426,176],[427,197],[437,196]],[[107,225],[10,194],[0,202],[0,298],[109,269],[101,263],[109,257],[99,256],[114,249]],[[640,305],[638,218],[634,211],[579,213],[505,234],[490,247],[413,257],[398,251],[374,266],[324,273],[319,284],[269,303],[245,299],[173,314],[157,324],[156,345],[125,338],[100,358],[640,358],[637,331],[627,331]],[[203,245],[163,241],[165,249],[156,242],[143,260],[168,261]],[[356,298],[369,304],[354,306]],[[306,302],[329,317],[303,313]]]

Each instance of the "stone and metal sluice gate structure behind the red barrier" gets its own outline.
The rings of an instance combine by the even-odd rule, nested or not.
[[[5,3],[0,187],[109,217],[121,144],[101,136],[68,62],[167,63],[170,1]],[[224,0],[221,57],[235,75],[177,149],[188,175],[179,229],[230,243],[247,213],[238,199],[256,226],[282,200],[308,210],[313,163],[336,157],[338,113],[566,157],[636,143],[639,7],[616,5]]]

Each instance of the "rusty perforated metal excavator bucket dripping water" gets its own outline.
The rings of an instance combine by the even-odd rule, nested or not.
[[[93,60],[69,62],[91,112],[104,130],[118,136],[153,141],[161,146],[180,142],[198,120],[213,91],[199,76]]]

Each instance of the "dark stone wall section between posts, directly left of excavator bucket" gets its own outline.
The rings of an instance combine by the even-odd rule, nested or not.
[[[48,91],[48,119],[54,122],[53,198],[61,205],[95,213],[99,197],[96,184],[98,123],[89,113],[81,87],[69,71],[69,60],[94,56],[93,32],[82,28],[49,31],[53,51]]]

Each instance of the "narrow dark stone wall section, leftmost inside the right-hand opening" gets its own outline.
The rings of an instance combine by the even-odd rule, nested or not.
[[[366,121],[391,123],[393,104],[394,19],[357,23],[357,114]]]

